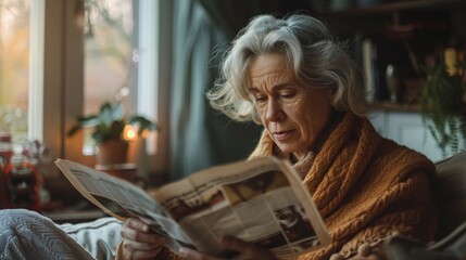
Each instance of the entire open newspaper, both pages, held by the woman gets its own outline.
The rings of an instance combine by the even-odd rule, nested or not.
[[[64,159],[56,166],[89,202],[125,220],[139,218],[168,237],[175,253],[189,247],[222,258],[232,235],[289,258],[330,243],[313,199],[291,165],[275,157],[216,166],[149,195],[125,180]]]

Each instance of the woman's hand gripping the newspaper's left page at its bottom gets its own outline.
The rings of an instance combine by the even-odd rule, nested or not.
[[[149,225],[136,218],[129,218],[121,230],[125,259],[151,259],[166,243],[162,235],[152,233]]]

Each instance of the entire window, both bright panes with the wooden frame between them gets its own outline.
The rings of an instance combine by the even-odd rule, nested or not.
[[[42,141],[51,158],[92,165],[92,156],[83,154],[83,139],[66,136],[76,115],[92,113],[119,93],[128,94],[124,98],[128,113],[159,121],[158,25],[162,5],[171,8],[172,3],[1,0],[0,131],[13,131],[14,140]],[[171,21],[169,15],[164,16]],[[7,77],[10,70],[14,74]],[[5,120],[11,116],[17,118]],[[150,143],[149,147],[155,141]]]

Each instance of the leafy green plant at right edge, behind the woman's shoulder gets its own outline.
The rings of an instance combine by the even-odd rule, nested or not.
[[[446,49],[444,62],[426,69],[426,83],[420,95],[424,122],[444,156],[456,154],[466,138],[465,64],[456,52]],[[464,54],[463,54],[464,55]]]

